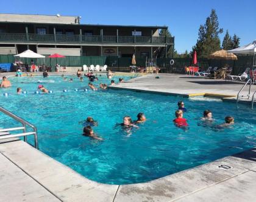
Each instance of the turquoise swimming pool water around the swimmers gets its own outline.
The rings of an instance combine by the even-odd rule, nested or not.
[[[131,91],[75,92],[74,88],[87,86],[87,81],[81,83],[73,78],[73,83],[56,76],[10,78],[13,87],[0,89],[0,101],[2,106],[37,126],[42,152],[99,183],[146,182],[256,145],[256,111],[248,106],[236,108],[232,103],[215,99],[182,99]],[[43,85],[54,93],[2,96],[4,92],[14,93],[18,86],[34,92],[38,80],[44,81]],[[100,82],[110,83],[105,76],[99,77],[96,85]],[[62,92],[63,89],[69,92]],[[172,123],[179,100],[188,109],[184,115],[189,124],[187,130]],[[235,117],[235,125],[221,130],[198,126],[206,109],[212,110],[215,124],[221,124],[230,115]],[[124,115],[135,119],[139,112],[145,113],[148,120],[134,128],[132,134],[116,126]],[[98,120],[94,131],[104,141],[82,136],[79,121],[87,116]],[[16,123],[1,114],[0,125],[12,127]],[[32,138],[29,140],[33,142]]]

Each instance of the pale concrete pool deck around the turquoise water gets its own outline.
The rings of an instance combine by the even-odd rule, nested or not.
[[[242,86],[177,74],[155,76],[134,78],[113,88],[229,97]],[[256,148],[148,183],[121,186],[90,181],[15,138],[0,141],[0,161],[0,202],[256,201]]]

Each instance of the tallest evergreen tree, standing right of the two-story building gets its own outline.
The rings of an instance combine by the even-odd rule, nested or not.
[[[219,33],[223,29],[219,28],[218,16],[214,9],[210,16],[207,17],[204,25],[201,25],[198,32],[198,39],[196,46],[192,47],[192,52],[196,50],[198,57],[206,58],[216,50],[221,49],[221,41],[219,40]]]

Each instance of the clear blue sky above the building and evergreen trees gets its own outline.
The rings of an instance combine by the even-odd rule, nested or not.
[[[240,45],[256,40],[256,0],[0,1],[0,13],[82,16],[82,24],[168,26],[179,53],[190,52],[199,26],[215,9],[219,27],[224,29],[221,41],[226,30],[241,38]]]

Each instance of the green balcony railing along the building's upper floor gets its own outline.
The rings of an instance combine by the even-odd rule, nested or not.
[[[102,35],[39,35],[35,33],[0,33],[0,43],[51,44],[173,44],[174,37],[137,37]]]

